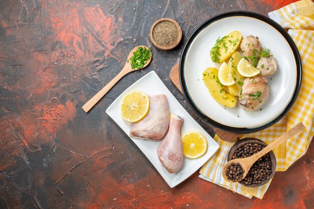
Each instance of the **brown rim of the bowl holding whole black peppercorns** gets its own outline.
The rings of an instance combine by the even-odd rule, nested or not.
[[[230,161],[232,159],[232,156],[234,155],[235,151],[239,147],[245,145],[246,143],[257,143],[259,145],[267,146],[267,144],[265,142],[263,142],[262,140],[257,139],[257,138],[244,138],[244,139],[241,139],[240,141],[236,142],[231,147],[231,149],[229,150],[229,153],[228,153],[227,160]],[[269,153],[269,157],[270,157],[270,161],[271,161],[271,173],[270,173],[269,179],[266,179],[265,181],[262,181],[261,183],[250,184],[250,185],[246,185],[245,183],[242,183],[242,182],[239,181],[240,184],[242,184],[244,186],[247,186],[247,187],[258,187],[258,186],[261,186],[261,185],[264,185],[265,183],[267,183],[274,176],[275,171],[276,171],[276,165],[277,165],[276,157],[275,157],[275,154],[274,154],[273,151],[270,151],[268,153]]]

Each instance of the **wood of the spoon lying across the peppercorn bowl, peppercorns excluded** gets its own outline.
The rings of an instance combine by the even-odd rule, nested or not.
[[[256,154],[246,157],[246,158],[238,158],[238,159],[233,159],[230,160],[229,162],[227,162],[223,169],[222,169],[222,175],[224,177],[224,179],[230,183],[233,183],[233,181],[231,179],[228,179],[226,176],[226,170],[227,167],[229,165],[231,165],[231,163],[239,163],[244,172],[243,172],[243,177],[241,179],[238,179],[238,181],[242,180],[247,173],[249,172],[251,166],[254,164],[254,162],[256,160],[258,160],[260,157],[262,157],[264,154],[268,153],[269,151],[271,151],[272,149],[274,149],[275,147],[279,146],[280,144],[282,144],[283,142],[285,142],[286,140],[288,140],[289,138],[291,138],[292,136],[296,135],[298,132],[300,132],[301,130],[304,129],[304,125],[303,123],[298,123],[295,126],[293,126],[290,130],[288,130],[287,132],[285,132],[283,135],[281,135],[279,138],[277,138],[275,141],[273,141],[272,143],[270,143],[268,146],[266,146],[264,149],[262,149],[261,151],[257,152]]]

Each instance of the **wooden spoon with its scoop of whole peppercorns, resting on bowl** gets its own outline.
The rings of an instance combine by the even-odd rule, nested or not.
[[[298,132],[303,130],[305,127],[303,123],[298,123],[295,126],[293,126],[290,130],[285,132],[283,135],[281,135],[279,138],[277,138],[275,141],[270,143],[268,146],[266,146],[264,149],[261,151],[257,152],[256,154],[246,157],[246,158],[237,158],[230,160],[227,162],[223,169],[222,169],[222,175],[224,179],[230,183],[241,181],[247,173],[249,172],[251,166],[254,164],[256,160],[261,158],[263,155],[271,151],[272,149],[276,148],[292,136],[296,135]],[[231,168],[231,169],[230,169]],[[233,171],[235,169],[235,174],[233,174]],[[232,173],[231,177],[229,174]],[[237,172],[239,171],[239,172]]]

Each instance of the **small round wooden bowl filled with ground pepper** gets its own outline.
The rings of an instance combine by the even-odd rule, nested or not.
[[[162,18],[152,24],[149,36],[153,46],[168,51],[178,46],[182,38],[182,30],[175,20]]]

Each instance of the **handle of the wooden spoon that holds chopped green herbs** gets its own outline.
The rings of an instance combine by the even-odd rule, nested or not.
[[[124,68],[123,68],[124,69]],[[93,96],[90,100],[88,100],[82,107],[85,112],[88,112],[92,109],[95,104],[103,97],[105,94],[128,72],[123,70],[120,71],[118,75],[116,75],[106,86],[104,86],[95,96]]]

